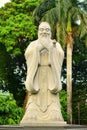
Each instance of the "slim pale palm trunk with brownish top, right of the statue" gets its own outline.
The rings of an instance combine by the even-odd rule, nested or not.
[[[68,123],[72,124],[72,33],[67,33],[67,113]]]

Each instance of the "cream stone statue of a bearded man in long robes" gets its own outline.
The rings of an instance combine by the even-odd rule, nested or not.
[[[38,39],[31,42],[25,51],[25,86],[30,98],[21,124],[34,121],[64,122],[58,93],[62,89],[63,58],[61,45],[51,39],[50,25],[42,22],[38,29]]]

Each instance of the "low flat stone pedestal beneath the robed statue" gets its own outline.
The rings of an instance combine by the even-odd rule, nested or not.
[[[29,126],[28,126],[29,125]],[[56,123],[32,123],[19,125],[0,125],[0,130],[87,130],[87,126],[82,125],[62,125]]]

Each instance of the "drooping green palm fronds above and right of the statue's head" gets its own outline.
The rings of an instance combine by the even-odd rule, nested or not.
[[[71,16],[68,16],[68,13]],[[77,20],[81,21],[81,25],[78,26],[80,37],[83,37],[87,33],[87,13],[81,10],[78,0],[44,0],[35,9],[34,18],[37,23],[40,23],[40,21],[49,22],[53,38],[57,38],[63,47],[66,43],[66,32],[72,31],[72,25]],[[59,24],[60,29],[57,28],[57,24]],[[59,32],[58,35],[60,38],[57,37],[57,32]]]

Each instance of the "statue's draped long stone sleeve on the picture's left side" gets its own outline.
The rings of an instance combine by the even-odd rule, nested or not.
[[[25,59],[27,64],[27,77],[25,81],[25,86],[28,91],[31,93],[37,93],[39,88],[38,86],[34,86],[34,76],[36,74],[37,68],[38,68],[38,50],[36,47],[28,46],[26,52],[25,52]]]

